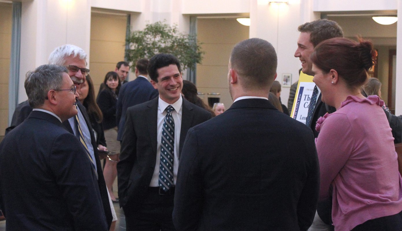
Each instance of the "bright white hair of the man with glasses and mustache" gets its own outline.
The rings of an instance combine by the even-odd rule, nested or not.
[[[86,63],[86,53],[83,49],[75,45],[66,44],[54,49],[49,55],[49,64],[62,66],[66,63],[64,59],[70,55],[74,55],[74,57],[78,56],[80,59],[84,59]]]

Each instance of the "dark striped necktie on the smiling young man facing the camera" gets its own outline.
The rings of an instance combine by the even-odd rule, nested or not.
[[[166,108],[168,114],[163,121],[162,139],[160,141],[160,166],[159,186],[167,192],[173,186],[173,157],[174,157],[174,120],[172,111],[174,108],[169,105]]]

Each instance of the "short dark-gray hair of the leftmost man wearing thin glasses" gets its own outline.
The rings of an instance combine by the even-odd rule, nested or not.
[[[28,72],[24,86],[29,106],[32,108],[42,106],[49,90],[61,88],[63,85],[63,72],[68,73],[66,67],[49,64],[41,65],[34,71]]]

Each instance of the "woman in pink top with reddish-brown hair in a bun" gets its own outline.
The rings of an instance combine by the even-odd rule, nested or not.
[[[360,92],[375,57],[371,42],[344,38],[311,55],[321,100],[336,108],[316,126],[320,199],[332,196],[335,231],[402,230],[402,178],[384,102]]]

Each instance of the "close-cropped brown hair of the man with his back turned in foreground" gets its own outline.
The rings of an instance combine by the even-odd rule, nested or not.
[[[263,89],[274,81],[278,62],[271,43],[252,38],[241,41],[233,48],[230,63],[243,77],[243,87]]]

